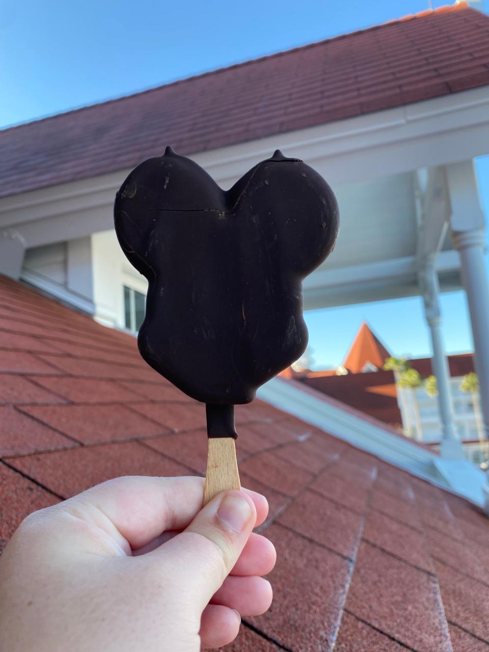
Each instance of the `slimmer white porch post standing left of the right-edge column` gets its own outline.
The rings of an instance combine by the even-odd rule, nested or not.
[[[464,456],[464,449],[456,434],[453,422],[452,396],[450,391],[450,370],[445,355],[441,318],[439,311],[439,282],[435,269],[435,255],[428,256],[420,274],[420,286],[424,301],[424,316],[430,329],[432,340],[432,366],[438,389],[438,408],[441,419],[441,456],[459,459]]]

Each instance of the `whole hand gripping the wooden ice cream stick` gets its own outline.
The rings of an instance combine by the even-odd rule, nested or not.
[[[125,477],[34,512],[0,558],[5,652],[198,652],[272,599],[263,496]],[[238,613],[239,612],[239,613]]]

